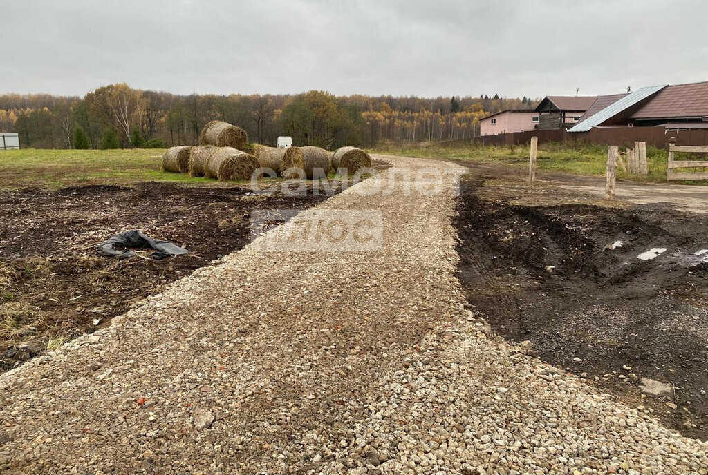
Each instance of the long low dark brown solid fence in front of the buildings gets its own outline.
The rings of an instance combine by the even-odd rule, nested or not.
[[[610,127],[607,129],[590,129],[588,132],[566,130],[535,130],[529,132],[508,132],[507,134],[477,137],[477,143],[484,145],[520,145],[529,143],[531,137],[537,136],[539,143],[587,141],[603,143],[604,145],[632,146],[634,142],[646,142],[658,148],[666,148],[670,137],[676,138],[677,145],[706,145],[708,130],[670,130],[664,127]]]

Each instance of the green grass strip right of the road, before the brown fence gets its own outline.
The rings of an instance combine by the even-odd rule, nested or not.
[[[620,152],[624,148],[619,149]],[[528,167],[530,147],[481,146],[474,143],[423,143],[421,145],[389,144],[370,150],[371,153],[389,153],[394,155],[435,158],[439,160],[471,160],[480,163],[506,163],[518,167]],[[687,155],[676,160],[697,160],[698,157]],[[623,156],[624,158],[624,156]],[[626,163],[626,158],[624,158]],[[668,151],[654,146],[646,149],[646,161],[649,175],[629,175],[617,165],[617,177],[641,182],[666,182],[666,163]],[[537,167],[539,170],[569,173],[571,175],[605,175],[607,167],[607,146],[598,143],[543,143],[538,148]],[[689,169],[690,170],[690,169]],[[698,169],[697,171],[702,171]],[[689,182],[707,184],[706,182]]]

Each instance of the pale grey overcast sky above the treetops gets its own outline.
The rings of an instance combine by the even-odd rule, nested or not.
[[[704,0],[0,0],[0,92],[618,93],[708,81]]]

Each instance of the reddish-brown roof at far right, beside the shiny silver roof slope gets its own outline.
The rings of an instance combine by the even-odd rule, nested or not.
[[[668,86],[632,119],[678,119],[708,116],[708,82]]]

